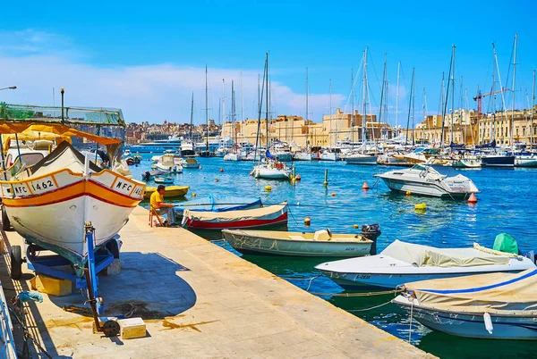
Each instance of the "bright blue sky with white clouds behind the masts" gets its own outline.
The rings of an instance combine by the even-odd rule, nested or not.
[[[66,104],[115,106],[127,121],[188,121],[190,96],[195,119],[204,121],[204,66],[209,66],[209,117],[217,118],[226,79],[231,80],[240,117],[252,117],[257,75],[270,53],[274,113],[305,113],[305,68],[309,68],[310,118],[328,113],[328,81],[333,107],[345,107],[351,68],[359,71],[369,48],[371,111],[380,97],[384,54],[388,54],[389,121],[395,119],[397,62],[401,62],[398,117],[406,118],[410,78],[416,70],[416,117],[422,116],[426,89],[429,113],[439,108],[442,71],[456,45],[456,98],[460,77],[468,101],[477,87],[490,88],[491,42],[496,41],[502,79],[518,33],[516,106],[531,96],[537,68],[537,30],[524,14],[530,1],[480,2],[14,2],[3,4],[0,25],[0,87],[8,102],[52,104],[52,88],[66,88]],[[243,96],[240,71],[243,71]],[[361,83],[361,76],[357,77]],[[510,87],[510,84],[509,84]],[[355,104],[362,103],[356,89]],[[456,100],[456,102],[458,102]],[[531,100],[531,99],[530,99]],[[56,95],[57,101],[57,95]],[[510,107],[510,94],[507,96]],[[368,109],[369,112],[369,109]],[[401,120],[400,120],[401,121]],[[416,120],[417,121],[417,120]],[[401,123],[401,122],[400,122]]]

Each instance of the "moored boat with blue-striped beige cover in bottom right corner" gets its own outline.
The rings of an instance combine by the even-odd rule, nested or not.
[[[405,283],[393,303],[431,330],[466,338],[537,340],[537,269]]]

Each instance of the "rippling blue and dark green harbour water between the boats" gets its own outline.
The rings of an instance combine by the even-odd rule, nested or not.
[[[149,170],[151,163],[148,159],[152,155],[144,154],[140,165],[131,166],[136,179],[141,179],[141,173]],[[377,183],[372,175],[394,167],[354,166],[344,162],[295,163],[296,173],[301,175],[302,180],[293,185],[288,181],[253,179],[249,176],[252,163],[224,162],[220,158],[198,158],[198,161],[201,170],[184,169],[183,174],[176,175],[176,185],[191,187],[187,200],[192,200],[192,193],[196,193],[197,197],[213,193],[219,196],[259,196],[265,205],[288,201],[291,205],[289,230],[329,228],[333,232],[356,233],[360,230],[354,230],[354,224],[379,223],[382,231],[379,251],[395,239],[431,246],[472,246],[473,242],[478,242],[491,247],[496,235],[505,231],[516,238],[523,252],[537,249],[537,196],[534,192],[537,169],[460,171],[473,179],[481,190],[477,195],[479,202],[468,205],[465,201],[391,194],[384,183],[381,180]],[[224,172],[220,172],[220,168]],[[324,188],[324,171],[327,168],[328,188]],[[443,171],[455,173],[452,169]],[[371,187],[367,192],[362,190],[365,180]],[[154,183],[149,185],[155,186]],[[266,192],[266,185],[272,186],[272,191]],[[414,210],[413,205],[420,203],[427,204],[425,213]],[[310,227],[303,224],[306,216],[311,218]],[[221,238],[218,233],[200,235],[216,240],[218,246],[240,255],[217,240]],[[320,293],[333,305],[396,337],[408,340],[411,334],[413,345],[433,355],[442,358],[535,355],[535,343],[532,342],[457,338],[428,330],[416,321],[410,327],[408,315],[396,305],[362,311],[388,302],[390,296],[335,296],[344,292],[337,284],[322,276],[311,280],[320,275],[313,266],[324,262],[322,259],[243,257],[300,288],[306,289],[311,283],[311,292]]]

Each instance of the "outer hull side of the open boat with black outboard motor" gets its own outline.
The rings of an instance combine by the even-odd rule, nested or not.
[[[243,254],[292,255],[304,257],[356,257],[369,255],[371,242],[328,242],[236,235],[223,231],[227,243]]]

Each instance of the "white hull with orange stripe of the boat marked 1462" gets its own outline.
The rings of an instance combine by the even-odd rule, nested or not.
[[[23,238],[83,265],[88,255],[84,223],[92,223],[95,246],[103,246],[124,227],[145,183],[109,170],[85,175],[63,169],[0,181],[0,189],[5,212]]]

